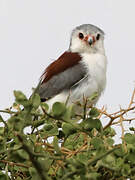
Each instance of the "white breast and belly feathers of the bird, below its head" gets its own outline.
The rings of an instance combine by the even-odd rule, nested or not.
[[[73,101],[80,100],[83,96],[90,97],[94,92],[97,92],[100,96],[106,85],[106,56],[88,53],[83,53],[81,56],[81,63],[86,66],[88,77],[86,78],[87,80],[80,82],[79,86],[71,92]]]

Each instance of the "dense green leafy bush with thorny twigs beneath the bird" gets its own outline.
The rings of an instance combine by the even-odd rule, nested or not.
[[[95,107],[82,107],[78,115],[73,106],[56,102],[48,112],[38,94],[14,95],[13,107],[3,110],[10,117],[0,116],[1,180],[135,179],[134,133],[115,145],[115,130],[103,129]]]

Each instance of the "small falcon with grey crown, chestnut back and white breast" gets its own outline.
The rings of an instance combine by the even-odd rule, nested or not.
[[[93,93],[96,104],[106,87],[107,57],[104,48],[105,33],[92,24],[73,29],[69,48],[53,61],[40,77],[38,94],[42,102],[52,108],[55,102],[82,102]]]

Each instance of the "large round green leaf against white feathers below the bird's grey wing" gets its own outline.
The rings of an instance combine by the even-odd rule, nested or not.
[[[61,116],[65,113],[66,106],[63,103],[56,102],[53,104],[52,112],[54,116]]]

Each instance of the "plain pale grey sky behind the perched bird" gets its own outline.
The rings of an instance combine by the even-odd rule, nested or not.
[[[107,87],[98,107],[124,107],[135,81],[134,0],[0,0],[0,109],[27,96],[45,67],[68,49],[72,29],[94,24],[104,30]]]

